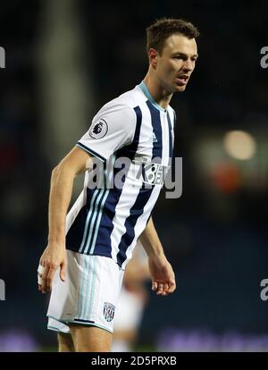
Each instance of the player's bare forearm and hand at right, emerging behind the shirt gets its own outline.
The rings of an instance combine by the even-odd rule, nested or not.
[[[155,226],[150,218],[146,229],[140,236],[140,241],[148,256],[148,265],[152,278],[152,289],[156,294],[166,296],[176,289],[175,274],[172,265],[163,252]]]

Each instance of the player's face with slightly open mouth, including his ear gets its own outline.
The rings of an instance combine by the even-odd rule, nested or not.
[[[154,55],[152,51],[154,49],[151,49],[151,57]],[[165,40],[162,55],[155,52],[153,57],[155,75],[167,92],[185,90],[189,77],[195,69],[197,56],[196,40],[179,34]]]

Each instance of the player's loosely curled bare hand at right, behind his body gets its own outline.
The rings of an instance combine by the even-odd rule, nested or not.
[[[150,256],[149,270],[152,278],[152,290],[159,296],[167,296],[176,289],[175,274],[172,265],[165,256]]]

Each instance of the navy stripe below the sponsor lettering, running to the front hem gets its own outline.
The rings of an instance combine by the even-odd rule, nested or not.
[[[120,266],[127,258],[127,249],[135,238],[134,228],[138,217],[143,214],[144,207],[147,205],[153,189],[154,187],[152,189],[140,189],[134,205],[130,208],[130,215],[125,222],[126,232],[121,236],[119,252],[117,254],[117,263]]]

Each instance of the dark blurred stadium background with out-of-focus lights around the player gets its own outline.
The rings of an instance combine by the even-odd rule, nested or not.
[[[197,25],[199,59],[177,112],[183,193],[153,216],[177,274],[150,291],[138,350],[268,350],[268,4],[4,0],[0,13],[0,351],[56,350],[37,290],[50,172],[113,97],[147,72],[157,18]],[[80,191],[81,180],[74,198]]]

